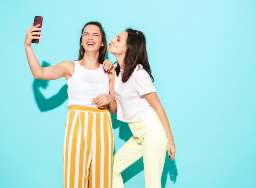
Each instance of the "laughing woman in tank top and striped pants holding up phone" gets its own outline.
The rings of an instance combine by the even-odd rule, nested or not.
[[[116,113],[117,103],[113,95],[115,70],[108,72],[112,63],[104,61],[106,34],[99,22],[88,22],[82,29],[79,59],[45,68],[31,48],[32,39],[40,39],[42,34],[39,25],[32,24],[25,50],[36,79],[67,80],[63,187],[110,188],[114,147],[110,111]]]

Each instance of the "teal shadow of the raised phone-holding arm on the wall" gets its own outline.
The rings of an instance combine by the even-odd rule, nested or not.
[[[43,61],[42,67],[50,66],[49,63]],[[61,89],[55,95],[50,98],[45,98],[41,93],[40,87],[46,89],[48,86],[49,80],[34,79],[33,82],[33,91],[36,100],[36,104],[40,111],[52,110],[60,105],[62,105],[67,100],[67,84],[63,85]]]

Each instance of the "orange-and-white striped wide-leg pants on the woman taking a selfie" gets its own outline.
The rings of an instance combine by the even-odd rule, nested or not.
[[[113,148],[107,107],[70,106],[63,146],[63,187],[110,188]]]

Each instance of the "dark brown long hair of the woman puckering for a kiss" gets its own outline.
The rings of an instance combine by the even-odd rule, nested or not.
[[[148,72],[152,82],[154,78],[151,74],[151,68],[148,62],[148,54],[146,50],[146,38],[144,33],[131,28],[125,30],[128,33],[126,41],[126,54],[124,57],[124,71],[122,74],[122,82],[127,82],[137,65],[141,64],[143,69]],[[116,67],[117,76],[120,73],[120,66]]]

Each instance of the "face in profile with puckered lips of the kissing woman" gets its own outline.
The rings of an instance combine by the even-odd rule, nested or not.
[[[123,31],[117,35],[115,39],[112,39],[109,43],[108,52],[112,53],[116,57],[124,57],[126,53],[126,41],[128,33]]]

